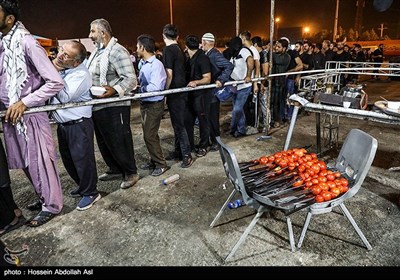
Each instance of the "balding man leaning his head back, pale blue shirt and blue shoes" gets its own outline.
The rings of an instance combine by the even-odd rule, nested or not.
[[[82,63],[85,46],[72,40],[59,50],[53,64],[64,79],[65,87],[51,99],[51,104],[91,100],[92,78]],[[82,196],[76,209],[86,210],[101,198],[97,191],[97,169],[94,155],[92,106],[59,109],[52,113],[57,122],[57,136],[65,169],[78,187],[70,192]]]

